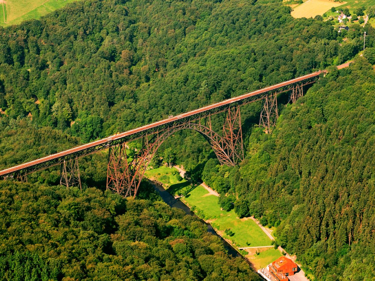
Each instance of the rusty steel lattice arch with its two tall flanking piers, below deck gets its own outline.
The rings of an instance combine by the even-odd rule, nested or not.
[[[211,116],[205,125],[199,122],[184,122],[167,128],[164,132],[146,135],[142,148],[132,160],[126,154],[126,143],[110,147],[107,168],[107,189],[125,197],[135,197],[144,172],[160,145],[166,138],[182,129],[195,130],[210,143],[221,164],[234,166],[243,160],[243,142],[239,107],[229,108],[226,114],[223,136],[212,130]],[[233,151],[233,150],[236,151]]]

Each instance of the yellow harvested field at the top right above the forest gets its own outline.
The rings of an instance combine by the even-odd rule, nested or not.
[[[333,2],[330,0],[308,0],[295,7],[291,12],[294,18],[314,18],[316,15],[323,15],[332,7],[338,7],[345,2]]]

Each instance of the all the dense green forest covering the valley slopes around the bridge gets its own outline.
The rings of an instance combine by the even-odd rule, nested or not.
[[[319,17],[293,19],[281,1],[267,0],[84,0],[0,27],[0,169],[343,63],[362,48],[363,31],[366,46],[375,47],[369,25],[338,33]],[[222,194],[221,202],[226,194],[240,216],[277,226],[278,243],[318,280],[369,280],[371,54],[349,69],[330,68],[296,105],[281,105],[272,135],[254,124],[261,104],[244,106],[246,159],[237,167],[218,166],[192,132],[176,133],[159,154],[172,147],[175,162]],[[219,128],[220,118],[214,122]],[[121,280],[253,278],[195,219],[162,203],[103,196],[106,160],[101,152],[81,160],[82,194],[55,187],[57,169],[34,173],[33,184],[0,183],[5,280],[83,280],[98,272]],[[153,232],[138,237],[150,221]],[[175,252],[176,239],[184,242]],[[198,244],[207,251],[196,253]],[[167,265],[155,247],[173,261]],[[229,268],[212,272],[207,260],[215,259]],[[140,269],[150,275],[139,277]]]

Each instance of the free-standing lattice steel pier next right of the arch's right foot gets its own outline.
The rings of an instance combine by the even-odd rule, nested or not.
[[[267,95],[263,99],[263,109],[260,114],[259,125],[262,126],[266,133],[272,134],[273,127],[279,117],[277,94]]]

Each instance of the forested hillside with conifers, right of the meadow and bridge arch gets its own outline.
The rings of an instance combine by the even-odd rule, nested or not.
[[[374,94],[375,71],[365,59],[332,68],[283,106],[272,135],[252,131],[239,168],[210,160],[203,172],[233,196],[237,214],[277,226],[278,243],[318,280],[375,276]]]

